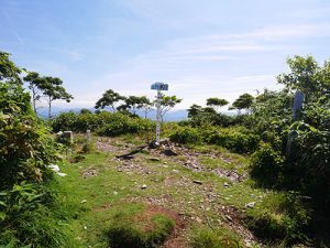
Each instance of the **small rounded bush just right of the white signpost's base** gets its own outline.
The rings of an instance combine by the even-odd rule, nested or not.
[[[195,128],[179,128],[174,133],[169,136],[169,139],[177,143],[200,143],[202,140],[202,137],[200,132]]]

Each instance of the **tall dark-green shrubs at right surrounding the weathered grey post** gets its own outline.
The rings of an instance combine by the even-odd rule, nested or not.
[[[318,216],[310,219],[312,225],[296,219],[298,212],[290,213],[293,223],[282,223],[286,238],[304,239],[307,227],[316,231],[312,226],[321,228],[320,219],[330,216],[330,64],[320,66],[311,56],[296,56],[288,65],[290,72],[278,76],[284,89],[265,90],[252,107],[251,129],[263,143],[252,155],[251,175],[260,185],[307,196],[302,206]],[[305,94],[305,103],[293,120],[296,90]],[[256,224],[271,225],[272,219],[266,219]]]

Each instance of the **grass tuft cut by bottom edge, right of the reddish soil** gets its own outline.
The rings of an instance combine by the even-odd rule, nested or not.
[[[241,248],[239,237],[224,229],[195,228],[190,235],[193,248]]]

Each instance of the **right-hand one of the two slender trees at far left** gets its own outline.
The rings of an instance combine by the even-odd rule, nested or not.
[[[48,118],[52,118],[52,103],[54,100],[66,100],[69,103],[74,97],[62,86],[58,77],[43,77],[42,90],[48,103]]]

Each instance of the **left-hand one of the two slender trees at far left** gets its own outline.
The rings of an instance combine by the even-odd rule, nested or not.
[[[23,77],[24,82],[29,83],[29,88],[32,93],[32,105],[33,110],[36,114],[36,101],[40,100],[42,96],[42,88],[45,80],[35,72],[29,72],[25,77]]]

